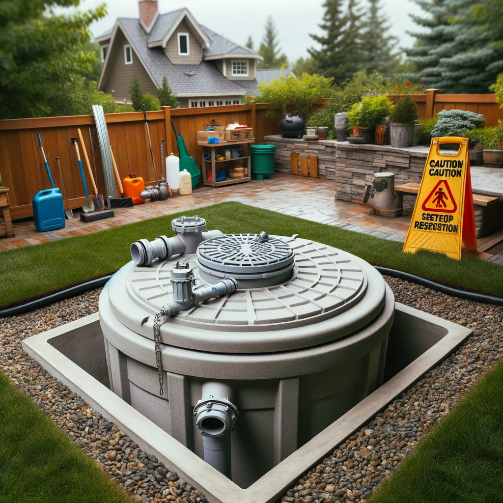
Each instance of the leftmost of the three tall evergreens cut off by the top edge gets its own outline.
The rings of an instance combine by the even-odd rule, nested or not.
[[[311,57],[325,76],[333,77],[337,84],[350,78],[363,67],[361,18],[356,0],[349,0],[343,12],[343,0],[325,0],[323,23],[318,25],[325,34],[310,35],[321,49],[308,49]]]

